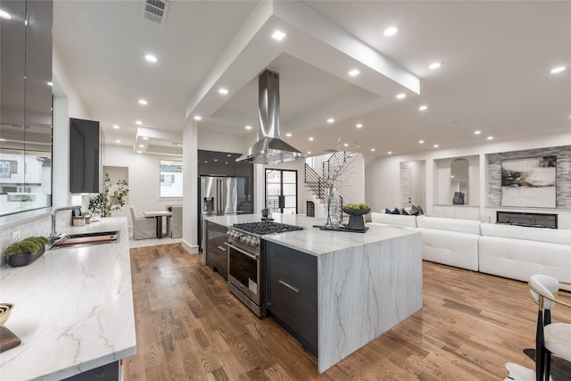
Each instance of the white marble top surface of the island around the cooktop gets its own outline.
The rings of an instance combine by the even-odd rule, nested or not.
[[[319,228],[313,228],[313,226],[322,226],[325,219],[281,213],[274,213],[273,218],[274,222],[299,226],[303,230],[269,234],[262,236],[263,239],[316,256],[398,236],[407,236],[416,232],[413,229],[393,226],[369,226],[366,233],[320,230]],[[232,226],[235,223],[261,220],[259,214],[211,216],[204,219],[225,227]]]

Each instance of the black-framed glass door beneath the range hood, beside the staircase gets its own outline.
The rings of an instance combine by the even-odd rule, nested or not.
[[[297,214],[297,170],[266,170],[266,208]]]

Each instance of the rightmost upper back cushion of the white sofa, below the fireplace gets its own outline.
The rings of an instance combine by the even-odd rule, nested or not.
[[[529,241],[571,244],[571,230],[551,228],[528,228],[514,225],[488,224],[481,226],[482,236],[500,236]],[[569,248],[571,250],[571,248]],[[570,252],[571,253],[571,252]]]

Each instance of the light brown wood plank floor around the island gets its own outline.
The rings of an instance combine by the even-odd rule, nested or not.
[[[527,284],[430,262],[424,307],[327,370],[271,319],[258,319],[180,244],[130,250],[137,355],[125,380],[503,380],[533,369]],[[565,293],[569,298],[569,293]],[[567,299],[571,300],[571,298]],[[554,321],[571,323],[565,309]]]

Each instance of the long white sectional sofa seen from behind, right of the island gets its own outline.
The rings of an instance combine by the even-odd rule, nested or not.
[[[426,261],[523,281],[545,274],[571,282],[571,230],[378,212],[368,224],[419,229]]]

